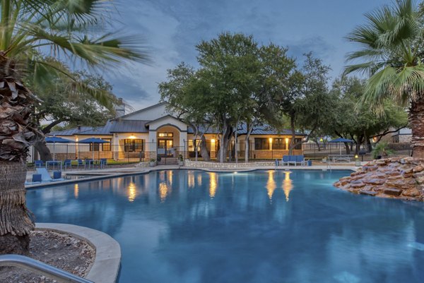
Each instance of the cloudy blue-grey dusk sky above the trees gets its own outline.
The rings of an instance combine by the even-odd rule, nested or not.
[[[104,73],[134,109],[159,100],[158,83],[166,72],[184,61],[196,65],[195,45],[220,32],[253,35],[259,44],[288,47],[302,61],[314,56],[331,66],[331,78],[340,75],[347,52],[355,45],[344,38],[364,23],[364,13],[391,1],[383,0],[125,0],[117,5],[117,28],[141,35],[149,49],[151,66],[131,64]],[[119,23],[120,22],[120,23]]]

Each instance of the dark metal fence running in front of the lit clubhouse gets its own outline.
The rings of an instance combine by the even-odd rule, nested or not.
[[[206,142],[208,157],[216,160],[218,157],[219,143]],[[254,143],[249,143],[248,159],[280,159],[283,155],[288,155],[288,150],[272,148],[267,145],[264,149],[255,149]],[[302,150],[297,149],[293,154],[302,154]],[[228,145],[225,158],[232,162],[237,158],[245,159],[245,143],[239,143],[237,147],[234,143]],[[33,164],[35,160],[61,160],[66,159],[107,159],[108,164],[125,164],[134,162],[157,160],[160,164],[176,164],[179,157],[183,159],[195,159],[196,152],[192,141],[184,146],[158,147],[157,143],[140,143],[137,145],[110,145],[105,144],[76,144],[76,143],[56,143],[47,144],[46,147],[30,147],[28,152],[28,164]],[[198,159],[203,159],[201,148],[198,147]]]

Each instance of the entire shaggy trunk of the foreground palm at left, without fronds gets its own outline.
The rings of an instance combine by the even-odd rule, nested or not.
[[[31,123],[37,98],[0,52],[0,254],[25,253],[34,223],[25,207],[28,147],[43,137]]]

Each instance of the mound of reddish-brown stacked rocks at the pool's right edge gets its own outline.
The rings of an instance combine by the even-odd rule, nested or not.
[[[352,193],[382,198],[424,200],[424,159],[413,157],[368,162],[334,186]]]

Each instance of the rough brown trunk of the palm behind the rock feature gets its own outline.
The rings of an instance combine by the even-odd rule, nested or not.
[[[424,95],[411,102],[408,118],[412,130],[412,156],[424,158]]]

